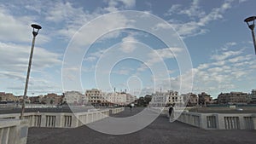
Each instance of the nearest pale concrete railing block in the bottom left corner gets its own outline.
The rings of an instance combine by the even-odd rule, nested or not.
[[[1,144],[26,144],[27,120],[0,118]]]

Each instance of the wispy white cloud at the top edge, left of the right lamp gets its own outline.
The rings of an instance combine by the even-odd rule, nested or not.
[[[183,8],[182,5],[172,5],[165,15],[183,14],[188,17],[186,21],[169,20],[170,24],[177,30],[182,37],[191,37],[206,33],[207,24],[214,20],[222,20],[224,13],[231,9],[233,1],[224,1],[218,8],[213,8],[210,12],[203,11],[200,8],[198,0],[194,0],[189,8]]]

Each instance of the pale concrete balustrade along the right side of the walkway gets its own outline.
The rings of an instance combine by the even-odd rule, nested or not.
[[[174,118],[205,130],[256,130],[256,114],[175,112]]]

